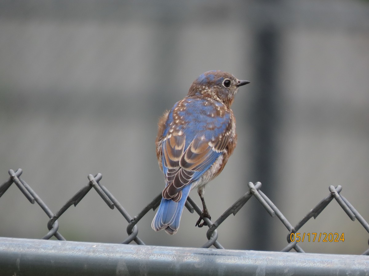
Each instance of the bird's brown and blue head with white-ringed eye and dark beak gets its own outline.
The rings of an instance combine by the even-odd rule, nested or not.
[[[188,96],[203,96],[231,107],[238,87],[250,83],[241,81],[224,71],[207,71],[201,74],[191,85]]]

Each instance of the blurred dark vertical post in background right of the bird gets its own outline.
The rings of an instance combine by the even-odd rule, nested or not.
[[[260,14],[259,14],[260,15]],[[249,107],[249,122],[251,125],[251,167],[247,181],[260,181],[261,190],[274,201],[277,190],[276,154],[279,124],[278,98],[280,97],[277,72],[279,32],[276,24],[262,24],[255,31],[254,43],[254,99]],[[271,250],[273,229],[272,217],[256,202],[253,202],[251,214],[252,239],[245,248],[252,250]]]

